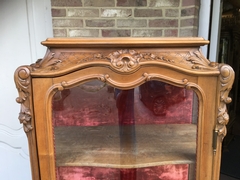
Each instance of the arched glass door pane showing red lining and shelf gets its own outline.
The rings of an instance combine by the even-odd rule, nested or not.
[[[58,179],[187,180],[195,175],[196,95],[149,81],[91,81],[53,98]]]

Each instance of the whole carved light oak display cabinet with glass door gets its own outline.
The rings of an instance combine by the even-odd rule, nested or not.
[[[19,67],[34,180],[217,180],[234,72],[202,38],[47,39]]]

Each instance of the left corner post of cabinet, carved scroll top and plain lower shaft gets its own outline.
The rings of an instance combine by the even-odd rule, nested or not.
[[[37,142],[33,118],[31,67],[20,66],[17,68],[14,74],[14,81],[19,93],[16,101],[21,104],[18,119],[23,124],[23,129],[28,137],[32,179],[39,180]]]

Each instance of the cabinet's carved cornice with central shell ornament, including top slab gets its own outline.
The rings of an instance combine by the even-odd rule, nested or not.
[[[31,65],[31,74],[57,77],[93,65],[132,73],[140,66],[155,64],[186,73],[216,75],[217,64],[206,59],[200,50],[200,46],[208,43],[194,37],[47,39],[42,44],[48,51],[43,59]]]

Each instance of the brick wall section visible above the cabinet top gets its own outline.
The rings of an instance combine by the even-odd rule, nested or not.
[[[51,0],[54,37],[197,36],[199,0]]]

